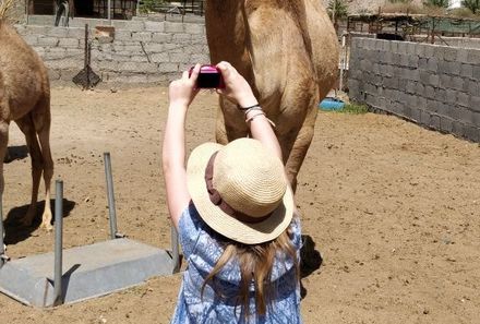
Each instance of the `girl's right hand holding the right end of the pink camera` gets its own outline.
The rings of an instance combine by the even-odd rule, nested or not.
[[[225,88],[217,89],[218,94],[237,101],[241,107],[259,104],[247,80],[230,63],[223,61],[217,64],[217,68],[225,83]]]

